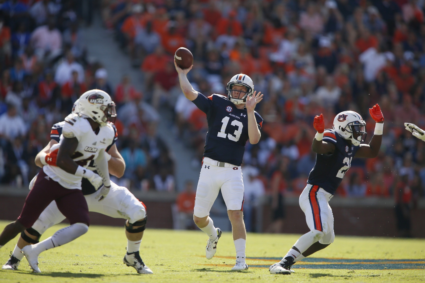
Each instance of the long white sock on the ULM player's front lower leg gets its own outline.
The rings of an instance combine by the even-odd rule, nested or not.
[[[33,245],[33,249],[39,253],[45,250],[56,248],[67,244],[88,231],[88,226],[84,223],[75,223],[65,228],[57,230],[53,236],[48,237],[44,241]]]

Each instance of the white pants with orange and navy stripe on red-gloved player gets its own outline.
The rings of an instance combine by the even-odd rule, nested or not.
[[[300,207],[306,215],[309,229],[325,234],[319,240],[320,244],[331,244],[335,238],[334,215],[328,203],[331,198],[331,193],[310,184],[307,184],[300,195]]]

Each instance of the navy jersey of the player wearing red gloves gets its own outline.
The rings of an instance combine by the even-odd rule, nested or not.
[[[333,154],[316,154],[316,164],[310,172],[307,183],[318,185],[328,193],[334,194],[360,146],[349,144],[332,129],[325,130],[323,141],[332,143],[335,151]]]

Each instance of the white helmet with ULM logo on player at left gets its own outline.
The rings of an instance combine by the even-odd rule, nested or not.
[[[116,118],[115,103],[103,90],[88,90],[78,99],[79,113],[105,126],[109,118]]]

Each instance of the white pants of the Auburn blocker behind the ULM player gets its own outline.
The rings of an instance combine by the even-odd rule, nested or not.
[[[130,223],[146,217],[146,208],[127,188],[120,187],[111,181],[111,189],[105,199],[99,202],[95,199],[95,193],[86,195],[88,210],[102,213],[113,218],[128,219]],[[62,222],[65,216],[57,208],[53,201],[38,217],[32,228],[43,234],[48,228]]]

